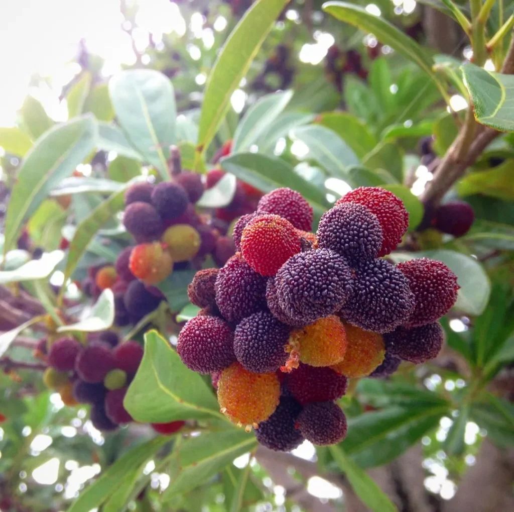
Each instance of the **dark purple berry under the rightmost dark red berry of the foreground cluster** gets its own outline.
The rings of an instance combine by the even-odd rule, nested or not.
[[[438,322],[413,329],[398,327],[384,337],[388,352],[404,361],[421,364],[434,359],[443,346],[443,328]]]

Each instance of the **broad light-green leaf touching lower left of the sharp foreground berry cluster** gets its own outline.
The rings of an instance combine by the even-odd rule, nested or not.
[[[170,343],[154,330],[144,334],[143,360],[123,403],[143,423],[225,418],[200,375],[185,366]]]

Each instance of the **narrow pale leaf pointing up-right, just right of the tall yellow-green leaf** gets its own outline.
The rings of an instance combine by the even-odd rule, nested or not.
[[[232,153],[249,151],[269,125],[286,108],[292,91],[267,94],[257,101],[241,119],[235,130]]]

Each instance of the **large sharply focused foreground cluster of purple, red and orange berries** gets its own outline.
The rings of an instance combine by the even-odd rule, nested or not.
[[[437,355],[436,320],[456,300],[455,275],[427,258],[379,259],[408,220],[393,193],[361,187],[323,215],[315,235],[307,201],[277,189],[235,224],[238,252],[225,266],[196,274],[189,297],[203,309],[181,330],[178,354],[214,374],[222,412],[253,426],[261,444],[339,442],[346,419],[335,401],[348,378]]]

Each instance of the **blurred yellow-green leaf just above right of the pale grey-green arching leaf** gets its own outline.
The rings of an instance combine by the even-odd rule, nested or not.
[[[368,127],[347,112],[325,112],[316,120],[320,125],[336,132],[359,158],[363,158],[378,144],[377,138]]]

